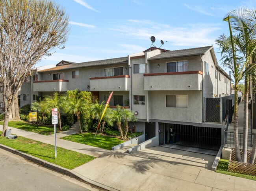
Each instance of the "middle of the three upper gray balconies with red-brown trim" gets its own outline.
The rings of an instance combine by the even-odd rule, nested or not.
[[[129,91],[130,76],[107,76],[90,78],[91,91]]]

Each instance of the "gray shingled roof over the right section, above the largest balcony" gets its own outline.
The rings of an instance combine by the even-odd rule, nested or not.
[[[212,48],[212,46],[161,52],[161,54],[148,58],[148,60],[204,55],[204,53],[208,51],[210,48]]]

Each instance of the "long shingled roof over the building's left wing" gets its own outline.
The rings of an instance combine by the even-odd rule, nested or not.
[[[121,63],[127,63],[128,62],[127,58],[128,57],[126,56],[126,57],[111,58],[106,60],[96,60],[91,62],[80,62],[80,63],[73,62],[73,64],[58,65],[53,68],[41,70],[40,72],[56,71],[56,70],[63,70],[63,69],[74,69],[74,68],[80,68],[80,67],[90,67],[90,66],[108,65],[108,64],[121,64]]]

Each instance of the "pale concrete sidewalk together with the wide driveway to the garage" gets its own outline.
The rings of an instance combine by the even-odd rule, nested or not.
[[[52,136],[10,129],[13,134],[54,144]],[[251,191],[256,187],[256,181],[208,170],[214,160],[211,155],[165,147],[127,154],[123,150],[108,151],[59,138],[57,146],[98,157],[73,171],[118,190]]]

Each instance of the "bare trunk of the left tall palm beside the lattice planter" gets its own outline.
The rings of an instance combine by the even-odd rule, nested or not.
[[[238,162],[242,162],[241,160],[241,154],[240,154],[240,146],[239,146],[239,140],[238,140],[238,105],[237,105],[237,90],[238,86],[235,85],[235,99],[234,99],[234,146],[236,151],[236,160]]]

